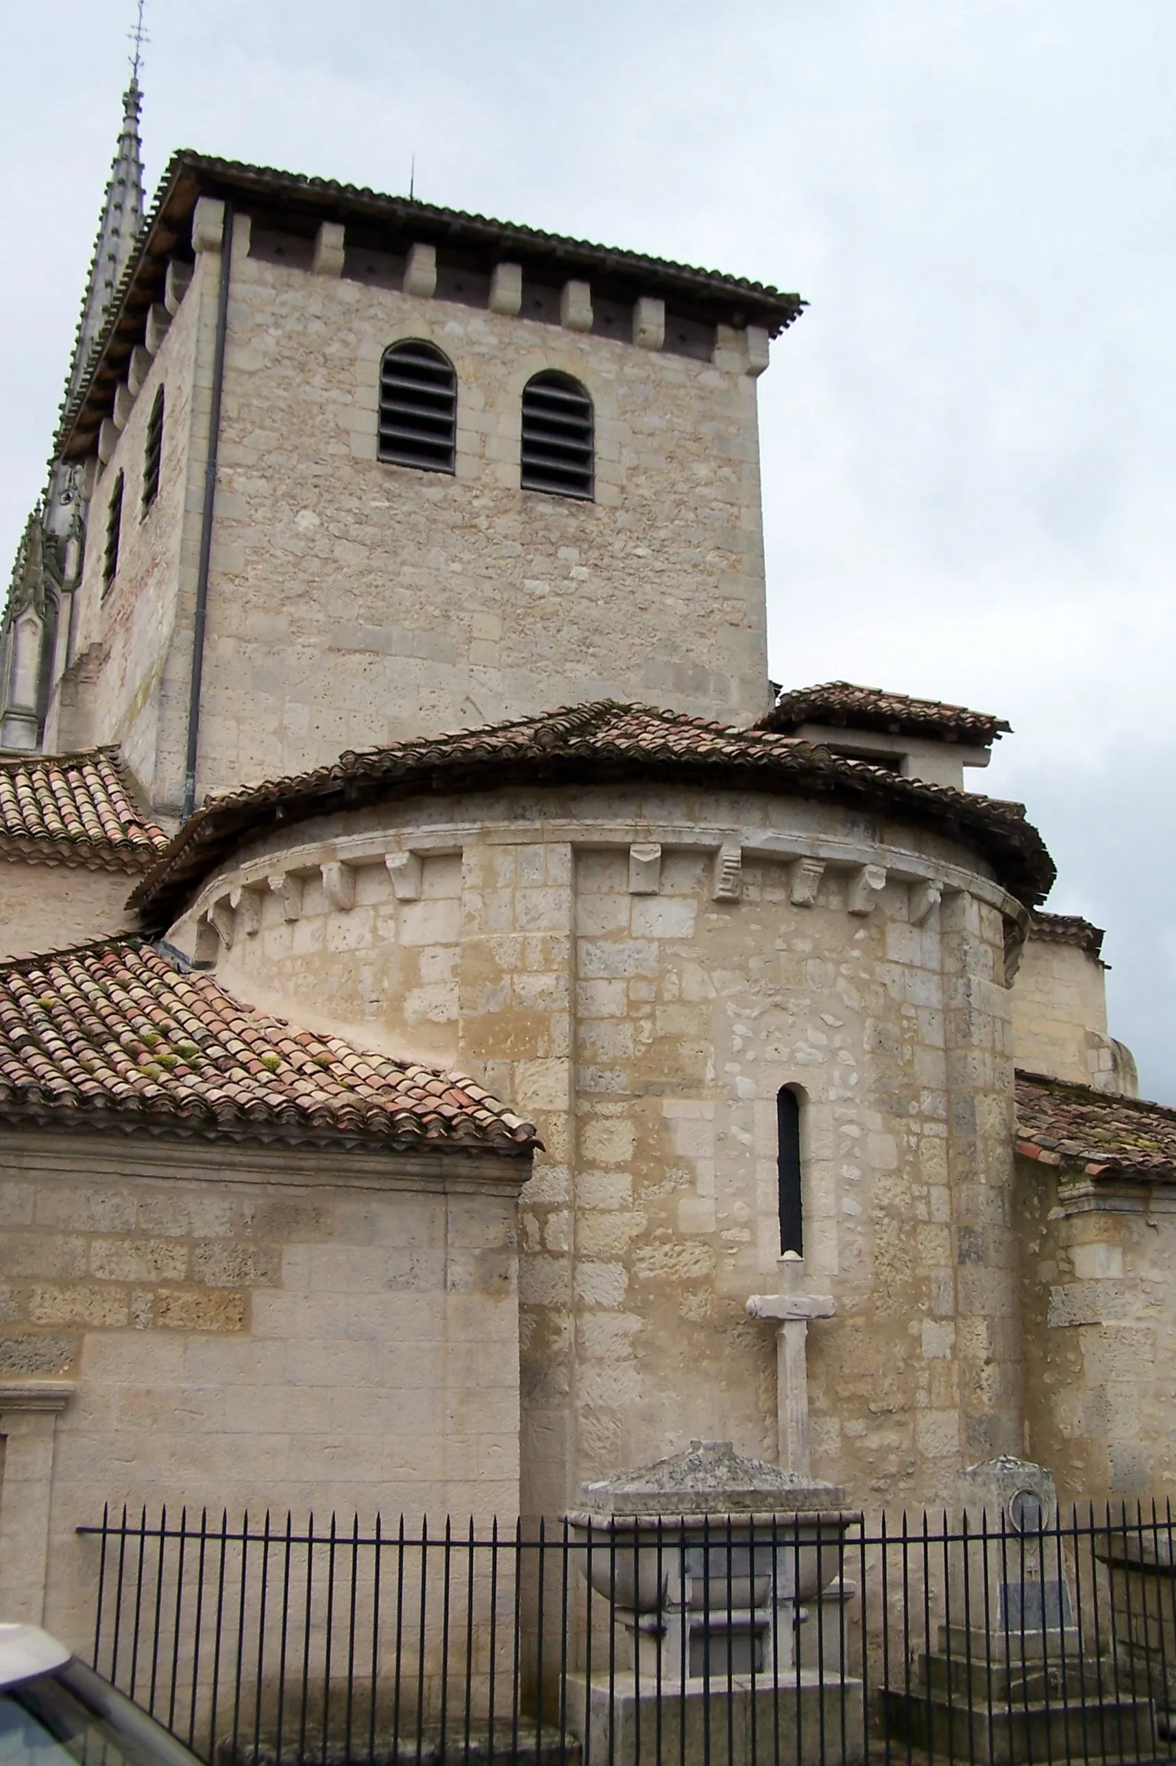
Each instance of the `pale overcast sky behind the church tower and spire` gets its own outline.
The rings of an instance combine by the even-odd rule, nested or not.
[[[0,0],[0,553],[44,477],[131,0]],[[1051,906],[1176,1102],[1176,4],[148,0],[175,147],[798,290],[772,671],[1006,715]]]

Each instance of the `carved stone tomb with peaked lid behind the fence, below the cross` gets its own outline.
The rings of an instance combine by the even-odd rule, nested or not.
[[[662,1750],[685,1748],[669,1755],[680,1759],[715,1759],[717,1745],[731,1766],[777,1761],[784,1745],[807,1759],[828,1701],[846,1724],[844,1757],[860,1757],[862,1687],[841,1648],[844,1542],[860,1515],[841,1506],[839,1485],[742,1459],[729,1441],[694,1441],[583,1496],[572,1536],[620,1634],[616,1644],[590,1637],[584,1672],[567,1681],[588,1761],[620,1766],[657,1736]],[[826,1588],[835,1637],[825,1626],[818,1672],[798,1662],[796,1634],[812,1619],[823,1630]]]

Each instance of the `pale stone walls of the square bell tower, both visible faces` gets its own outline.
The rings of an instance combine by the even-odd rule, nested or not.
[[[295,258],[305,244],[281,249]],[[696,360],[376,286],[353,261],[321,275],[274,253],[238,215],[201,796],[344,747],[592,698],[667,701],[727,722],[766,710],[745,334],[720,327],[713,358]],[[182,786],[217,279],[219,251],[200,251],[97,480],[79,592],[78,653],[99,646],[106,660],[78,740],[122,742],[157,812]],[[539,293],[556,297],[558,320],[558,290]],[[526,283],[523,297],[526,313]],[[380,360],[404,337],[436,343],[456,367],[452,477],[376,459]],[[519,489],[521,394],[540,369],[592,394],[595,502]],[[141,431],[161,378],[164,487],[139,523]],[[120,581],[102,599],[104,510],[120,470],[131,519]],[[166,560],[157,535],[170,535]]]

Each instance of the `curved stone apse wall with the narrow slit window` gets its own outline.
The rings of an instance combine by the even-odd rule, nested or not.
[[[876,1505],[943,1499],[1022,1445],[1008,906],[931,834],[583,788],[274,834],[170,936],[215,947],[242,998],[466,1068],[537,1120],[530,1508],[692,1436],[775,1457],[775,1344],[743,1309],[779,1275],[796,1086],[805,1280],[839,1309],[810,1332],[814,1471]]]

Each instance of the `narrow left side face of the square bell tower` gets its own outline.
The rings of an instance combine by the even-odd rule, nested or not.
[[[87,517],[72,662],[55,689],[46,733],[46,747],[64,740],[81,747],[118,742],[148,807],[164,821],[178,814],[184,788],[217,272],[219,256],[198,260],[115,450],[99,470]],[[143,512],[147,426],[161,385],[159,494]],[[118,570],[104,593],[106,517],[120,472]]]

